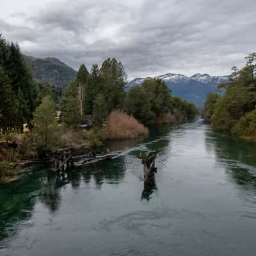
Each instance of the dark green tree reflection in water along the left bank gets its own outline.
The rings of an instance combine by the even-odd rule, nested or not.
[[[42,170],[42,169],[41,169]],[[68,175],[52,175],[44,171],[24,175],[22,179],[0,188],[0,241],[14,235],[22,221],[31,218],[38,198],[51,213],[61,205],[61,188],[70,184],[76,190],[95,181],[97,188],[102,182],[119,183],[125,177],[124,157],[113,161],[86,166]]]

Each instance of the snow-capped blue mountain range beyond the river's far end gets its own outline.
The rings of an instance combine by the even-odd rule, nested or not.
[[[152,77],[136,77],[126,84],[125,89],[129,91],[132,86],[139,85],[150,78]],[[190,77],[168,73],[156,78],[163,79],[173,95],[193,102],[196,106],[203,106],[207,93],[216,92],[218,84],[229,80],[229,76],[210,76],[199,73]]]

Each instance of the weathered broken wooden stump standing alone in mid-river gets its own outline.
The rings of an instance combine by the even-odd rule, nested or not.
[[[155,173],[157,172],[157,168],[155,166],[156,153],[157,152],[153,150],[147,153],[140,154],[141,162],[144,165],[143,172],[145,184],[154,182]]]

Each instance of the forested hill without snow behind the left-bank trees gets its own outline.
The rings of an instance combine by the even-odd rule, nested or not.
[[[35,79],[45,80],[54,86],[65,89],[68,83],[76,77],[76,70],[68,67],[57,58],[35,58],[24,56],[26,65],[30,68]]]

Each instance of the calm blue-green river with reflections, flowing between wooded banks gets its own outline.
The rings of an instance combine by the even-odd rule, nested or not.
[[[66,179],[33,166],[0,187],[1,256],[255,253],[255,143],[198,119],[108,147],[124,156]],[[147,190],[145,150],[158,150]]]

